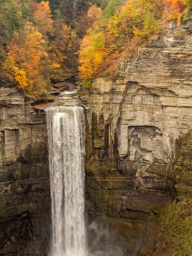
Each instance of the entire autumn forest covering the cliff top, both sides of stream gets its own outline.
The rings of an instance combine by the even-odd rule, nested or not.
[[[191,0],[0,0],[0,74],[46,95],[51,79],[92,79],[189,9]]]

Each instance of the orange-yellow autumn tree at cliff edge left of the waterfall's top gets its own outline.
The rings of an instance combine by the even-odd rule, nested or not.
[[[37,79],[45,83],[43,60],[47,58],[45,40],[33,24],[26,22],[24,28],[13,33],[4,62],[4,72],[17,81],[19,88],[36,86]]]

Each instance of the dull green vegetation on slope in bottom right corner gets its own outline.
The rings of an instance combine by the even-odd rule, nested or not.
[[[192,253],[192,200],[173,202],[161,214],[161,253],[170,250],[175,256]]]

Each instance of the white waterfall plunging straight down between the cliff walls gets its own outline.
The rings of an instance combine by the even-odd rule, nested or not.
[[[46,110],[51,180],[50,256],[86,256],[84,221],[84,111]]]

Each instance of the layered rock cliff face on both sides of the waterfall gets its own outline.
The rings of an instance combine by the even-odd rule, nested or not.
[[[179,28],[170,25],[121,63],[116,79],[98,78],[81,93],[86,212],[90,222],[108,223],[127,256],[142,255],[143,248],[152,255],[154,216],[177,189],[186,196],[192,185],[182,171],[175,186],[174,174],[175,164],[191,166],[191,29],[191,17]],[[45,113],[2,84],[0,255],[47,255],[50,227]]]

